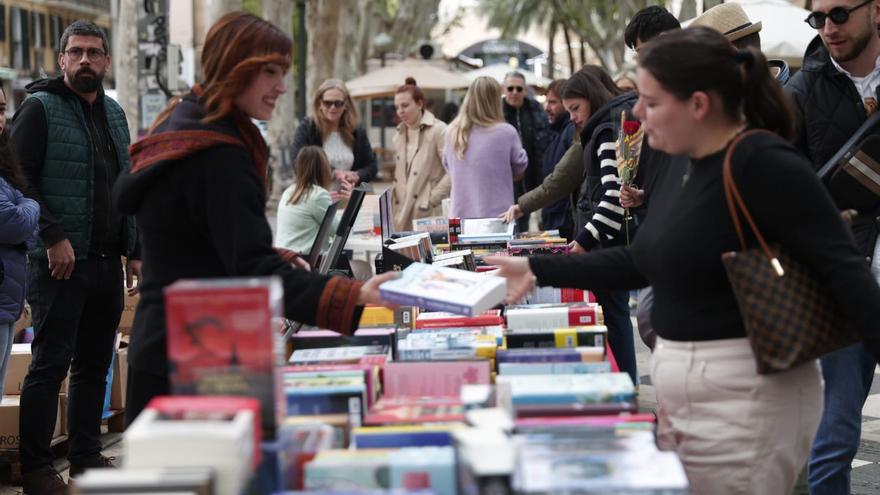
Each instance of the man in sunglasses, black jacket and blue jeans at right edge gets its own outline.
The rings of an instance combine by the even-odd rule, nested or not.
[[[785,89],[800,111],[796,145],[818,170],[877,110],[880,0],[813,0],[812,7],[806,22],[818,36],[807,48],[803,68]],[[880,129],[873,132],[880,133]],[[873,259],[874,275],[880,278],[880,252],[876,252],[880,211],[846,217],[859,248],[869,262]],[[863,344],[821,361],[825,412],[810,452],[810,493],[850,493],[862,406],[877,362]]]

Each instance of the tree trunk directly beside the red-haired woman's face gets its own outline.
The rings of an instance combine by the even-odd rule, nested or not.
[[[279,29],[293,37],[293,0],[263,0],[262,15],[264,19],[272,19]],[[269,166],[272,170],[272,198],[281,196],[284,187],[293,179],[293,160],[290,157],[290,145],[293,142],[293,130],[296,128],[296,112],[294,95],[296,87],[293,82],[293,71],[285,76],[287,92],[275,105],[266,141],[271,152]]]

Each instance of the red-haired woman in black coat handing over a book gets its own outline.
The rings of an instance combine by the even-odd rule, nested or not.
[[[272,117],[287,90],[291,48],[287,35],[259,17],[224,15],[205,38],[203,81],[170,102],[130,149],[132,170],[114,188],[119,209],[137,217],[144,253],[129,347],[129,423],[171,390],[162,294],[175,281],[278,276],[287,317],[351,333],[361,305],[380,304],[378,285],[394,278],[311,274],[272,247],[267,148],[251,119]]]

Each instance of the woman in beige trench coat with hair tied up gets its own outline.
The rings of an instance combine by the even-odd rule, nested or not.
[[[441,215],[450,181],[443,168],[446,124],[425,109],[425,94],[408,77],[394,95],[400,118],[394,136],[394,228],[413,230],[416,218]]]

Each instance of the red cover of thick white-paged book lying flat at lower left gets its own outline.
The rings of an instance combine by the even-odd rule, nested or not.
[[[254,469],[260,465],[263,453],[260,448],[262,427],[260,426],[260,402],[250,397],[211,396],[194,397],[178,395],[155,397],[147,409],[154,409],[167,419],[232,419],[239,411],[254,413]]]

